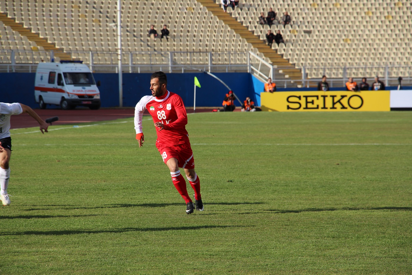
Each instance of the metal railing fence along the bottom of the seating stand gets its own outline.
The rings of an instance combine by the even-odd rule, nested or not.
[[[60,59],[82,60],[91,71],[117,73],[117,52],[49,52],[49,51],[0,51],[0,72],[33,72],[37,64],[59,62]],[[302,66],[300,79],[285,78],[282,68],[266,62],[253,52],[123,52],[122,71],[124,73],[148,73],[165,71],[185,73],[209,72],[249,72],[263,82],[268,77],[278,87],[313,87],[322,75],[328,76],[331,87],[342,87],[348,77],[374,78],[379,75],[386,85],[398,85],[398,77],[403,77],[403,85],[412,84],[412,66]],[[359,79],[360,81],[360,79]]]

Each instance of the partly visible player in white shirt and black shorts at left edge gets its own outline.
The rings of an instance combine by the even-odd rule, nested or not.
[[[0,102],[0,199],[3,205],[10,205],[7,186],[9,185],[9,161],[12,155],[12,138],[10,137],[10,116],[27,113],[40,124],[40,131],[47,132],[49,124],[42,120],[33,109],[21,103]],[[44,130],[44,132],[43,132]]]

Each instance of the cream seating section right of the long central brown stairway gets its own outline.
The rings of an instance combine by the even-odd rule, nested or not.
[[[216,0],[216,3],[219,1]],[[272,48],[296,68],[307,69],[308,78],[319,78],[328,69],[329,78],[384,75],[411,76],[412,2],[409,0],[243,0],[232,17],[265,39],[269,26],[258,24],[260,12],[273,7],[280,21],[283,12],[292,22],[283,28],[278,22],[272,31],[280,30],[286,44]],[[375,67],[374,67],[375,66]],[[356,68],[358,67],[358,68]],[[368,67],[362,69],[361,67]]]

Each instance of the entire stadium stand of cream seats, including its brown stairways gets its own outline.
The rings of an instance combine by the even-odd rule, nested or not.
[[[345,73],[383,76],[384,66],[391,66],[389,77],[412,76],[409,0],[241,0],[239,8],[232,11],[229,7],[228,13],[223,13],[219,3],[122,0],[122,48],[136,52],[133,62],[148,65],[165,63],[164,52],[176,52],[173,58],[178,63],[208,61],[207,54],[194,58],[178,52],[212,52],[215,64],[247,64],[244,53],[250,50],[297,79],[303,67],[308,78],[325,73],[328,78],[341,78]],[[47,57],[43,51],[50,50],[59,59],[64,50],[86,63],[90,51],[100,52],[94,64],[116,64],[116,5],[111,0],[1,1],[1,49],[14,50],[18,63],[40,62]],[[269,27],[257,22],[260,12],[267,14],[269,7],[278,21],[285,10],[292,17],[285,28],[274,21],[272,31],[280,30],[285,44],[274,43],[272,49],[262,42]],[[159,33],[166,24],[169,41],[148,39],[151,24]],[[33,50],[32,57],[17,57],[21,50]],[[129,62],[127,55],[123,59]],[[0,62],[7,61],[7,57],[0,58]]]

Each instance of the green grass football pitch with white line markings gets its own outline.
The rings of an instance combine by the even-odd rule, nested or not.
[[[191,215],[144,119],[12,130],[0,274],[412,273],[411,112],[190,114]]]

